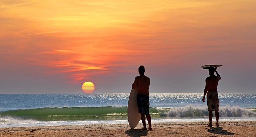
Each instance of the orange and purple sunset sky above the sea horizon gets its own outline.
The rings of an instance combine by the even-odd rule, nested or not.
[[[255,0],[1,0],[0,94],[256,93]]]

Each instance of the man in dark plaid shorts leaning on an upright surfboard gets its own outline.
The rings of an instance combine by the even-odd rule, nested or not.
[[[149,84],[150,78],[144,75],[144,66],[139,67],[140,76],[136,76],[132,88],[138,88],[137,94],[137,105],[139,108],[139,113],[141,114],[141,121],[143,124],[143,130],[147,130],[146,127],[146,117],[148,121],[148,130],[151,130],[151,117],[149,115]],[[146,115],[146,117],[145,117]]]

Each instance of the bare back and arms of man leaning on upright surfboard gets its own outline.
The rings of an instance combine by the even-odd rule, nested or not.
[[[138,94],[149,96],[150,78],[145,75],[135,77],[134,83],[132,84],[133,89],[138,87]]]

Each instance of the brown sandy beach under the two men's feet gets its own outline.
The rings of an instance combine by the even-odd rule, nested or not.
[[[142,124],[130,129],[128,124],[68,125],[0,128],[1,137],[256,137],[256,121],[220,122],[220,127],[206,127],[207,122],[152,123],[153,130],[143,131]]]

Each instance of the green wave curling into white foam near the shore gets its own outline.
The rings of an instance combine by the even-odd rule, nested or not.
[[[253,111],[252,111],[253,110]],[[220,107],[220,117],[255,117],[255,109]],[[187,105],[178,108],[150,108],[152,118],[161,117],[208,117],[207,107]],[[88,119],[127,119],[127,107],[63,107],[19,109],[0,112],[0,124],[15,121],[81,121]]]

